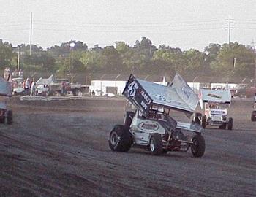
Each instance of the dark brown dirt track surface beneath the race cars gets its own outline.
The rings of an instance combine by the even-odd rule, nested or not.
[[[14,123],[0,125],[0,196],[256,196],[251,103],[233,104],[233,131],[203,131],[203,158],[112,152],[108,134],[123,104],[12,99]]]

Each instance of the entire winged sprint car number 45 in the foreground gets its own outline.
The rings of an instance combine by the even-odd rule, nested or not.
[[[110,131],[111,150],[127,152],[131,147],[140,147],[161,155],[191,148],[192,155],[203,156],[205,140],[201,126],[178,122],[170,116],[181,111],[190,117],[198,103],[197,95],[179,74],[167,86],[136,79],[131,74],[123,95],[135,112],[126,112],[124,124],[115,125]]]

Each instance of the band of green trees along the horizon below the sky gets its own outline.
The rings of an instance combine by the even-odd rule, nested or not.
[[[71,43],[74,43],[70,45]],[[71,47],[72,46],[72,47]],[[135,45],[116,42],[115,46],[88,48],[80,41],[63,42],[61,45],[42,47],[31,45],[13,47],[0,39],[0,69],[17,67],[20,50],[20,68],[24,71],[52,72],[65,76],[68,73],[106,74],[169,74],[217,75],[225,77],[254,78],[255,50],[238,42],[230,44],[211,43],[203,52],[181,50],[177,47],[152,45],[143,37]]]

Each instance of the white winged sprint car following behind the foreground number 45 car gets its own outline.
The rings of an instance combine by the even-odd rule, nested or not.
[[[206,126],[217,126],[220,129],[233,129],[233,118],[227,117],[227,105],[231,103],[231,93],[226,90],[200,90],[200,107],[204,114],[195,113],[194,122]]]

